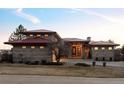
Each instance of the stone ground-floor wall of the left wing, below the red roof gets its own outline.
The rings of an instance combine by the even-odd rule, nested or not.
[[[48,47],[46,46],[43,49],[40,49],[39,47],[37,46],[34,49],[32,49],[30,46],[28,46],[25,49],[22,49],[21,47],[14,47],[12,49],[13,62],[16,63],[18,63],[19,61],[41,62],[41,60],[51,61],[51,55]]]

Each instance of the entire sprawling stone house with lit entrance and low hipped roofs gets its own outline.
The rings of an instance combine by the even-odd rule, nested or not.
[[[79,38],[61,38],[57,32],[51,30],[29,30],[22,32],[26,39],[8,41],[5,44],[13,45],[13,62],[41,62],[43,60],[55,62],[56,46],[65,49],[66,58],[83,58],[94,60],[114,60],[114,48],[119,44],[113,42],[91,42]],[[67,52],[67,53],[66,53]],[[63,55],[65,55],[63,54]]]

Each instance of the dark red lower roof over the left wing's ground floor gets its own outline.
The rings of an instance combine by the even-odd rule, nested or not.
[[[49,40],[43,38],[27,38],[24,40],[5,42],[5,44],[47,44]]]

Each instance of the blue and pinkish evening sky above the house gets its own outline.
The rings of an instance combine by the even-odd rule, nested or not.
[[[48,29],[62,38],[113,40],[124,44],[124,8],[0,8],[0,49],[9,49],[9,36],[18,25]]]

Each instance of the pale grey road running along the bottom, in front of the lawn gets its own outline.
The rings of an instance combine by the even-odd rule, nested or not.
[[[0,75],[1,84],[124,84],[124,78]]]

